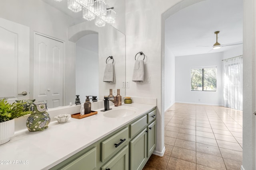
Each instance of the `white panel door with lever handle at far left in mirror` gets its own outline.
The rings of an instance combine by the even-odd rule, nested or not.
[[[0,18],[0,98],[29,99],[29,74],[29,27]]]

